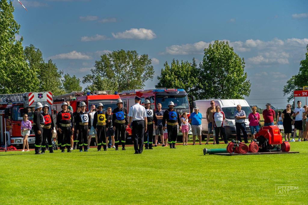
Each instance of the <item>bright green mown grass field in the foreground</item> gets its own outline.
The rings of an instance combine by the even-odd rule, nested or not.
[[[134,155],[0,152],[0,204],[307,204],[308,142],[281,155],[203,155],[219,145],[154,147]],[[275,184],[297,184],[276,196]]]

